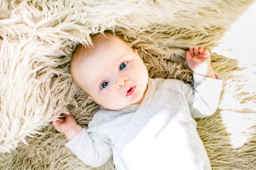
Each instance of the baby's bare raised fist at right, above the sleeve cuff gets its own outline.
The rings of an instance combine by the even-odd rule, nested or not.
[[[210,52],[207,49],[189,47],[189,51],[186,51],[186,60],[189,68],[196,74],[216,78],[210,66]]]

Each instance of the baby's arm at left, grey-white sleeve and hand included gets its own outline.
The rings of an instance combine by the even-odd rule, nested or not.
[[[60,112],[57,113],[57,116],[59,115]],[[91,167],[101,167],[105,164],[112,156],[108,138],[102,137],[97,132],[88,132],[88,130],[78,125],[71,115],[64,114],[64,116],[64,119],[53,121],[52,124],[57,131],[65,134],[69,141],[65,146],[77,158]]]

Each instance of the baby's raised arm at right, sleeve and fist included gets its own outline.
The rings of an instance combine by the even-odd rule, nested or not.
[[[213,114],[220,100],[222,78],[210,66],[210,53],[203,48],[189,48],[186,52],[189,68],[193,71],[194,84],[184,86],[184,94],[192,117]]]

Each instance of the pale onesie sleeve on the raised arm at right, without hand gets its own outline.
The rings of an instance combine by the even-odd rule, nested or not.
[[[184,94],[193,118],[207,117],[216,112],[223,80],[220,75],[215,75],[217,79],[193,73],[193,86],[185,84]]]

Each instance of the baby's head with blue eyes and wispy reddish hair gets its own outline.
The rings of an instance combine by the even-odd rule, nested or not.
[[[79,44],[73,53],[74,82],[107,109],[140,104],[147,90],[148,72],[137,50],[113,33],[91,38],[93,46]]]

